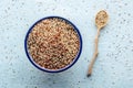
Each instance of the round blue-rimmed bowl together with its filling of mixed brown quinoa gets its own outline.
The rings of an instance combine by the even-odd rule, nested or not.
[[[59,73],[70,68],[82,51],[76,26],[61,16],[48,16],[35,22],[24,41],[30,62],[39,69]]]

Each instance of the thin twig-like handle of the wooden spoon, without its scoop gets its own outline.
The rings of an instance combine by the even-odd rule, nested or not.
[[[94,40],[95,50],[94,50],[94,54],[93,54],[91,64],[89,65],[88,77],[91,76],[91,74],[92,74],[92,68],[93,68],[94,62],[95,62],[98,54],[99,54],[99,52],[98,52],[99,36],[100,36],[100,29],[98,29],[98,33],[96,33],[96,36]]]

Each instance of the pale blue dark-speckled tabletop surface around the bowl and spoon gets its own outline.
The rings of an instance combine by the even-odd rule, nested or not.
[[[133,88],[132,0],[0,1],[0,88]],[[86,77],[94,52],[98,11],[110,20],[101,31],[99,56]],[[59,15],[73,22],[83,38],[82,54],[70,69],[49,74],[37,69],[24,52],[24,37],[39,19]]]

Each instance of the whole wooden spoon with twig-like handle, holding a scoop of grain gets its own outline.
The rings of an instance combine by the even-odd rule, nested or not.
[[[95,24],[96,24],[96,28],[98,28],[98,33],[96,33],[96,36],[95,36],[95,52],[93,54],[93,57],[92,57],[92,61],[91,61],[91,64],[89,65],[89,70],[88,70],[88,77],[91,76],[92,74],[92,68],[93,68],[93,64],[98,57],[98,43],[99,43],[99,36],[100,36],[100,30],[106,25],[108,23],[108,20],[109,20],[109,15],[108,13],[104,11],[104,10],[101,10],[100,12],[98,12],[96,16],[95,16]]]

